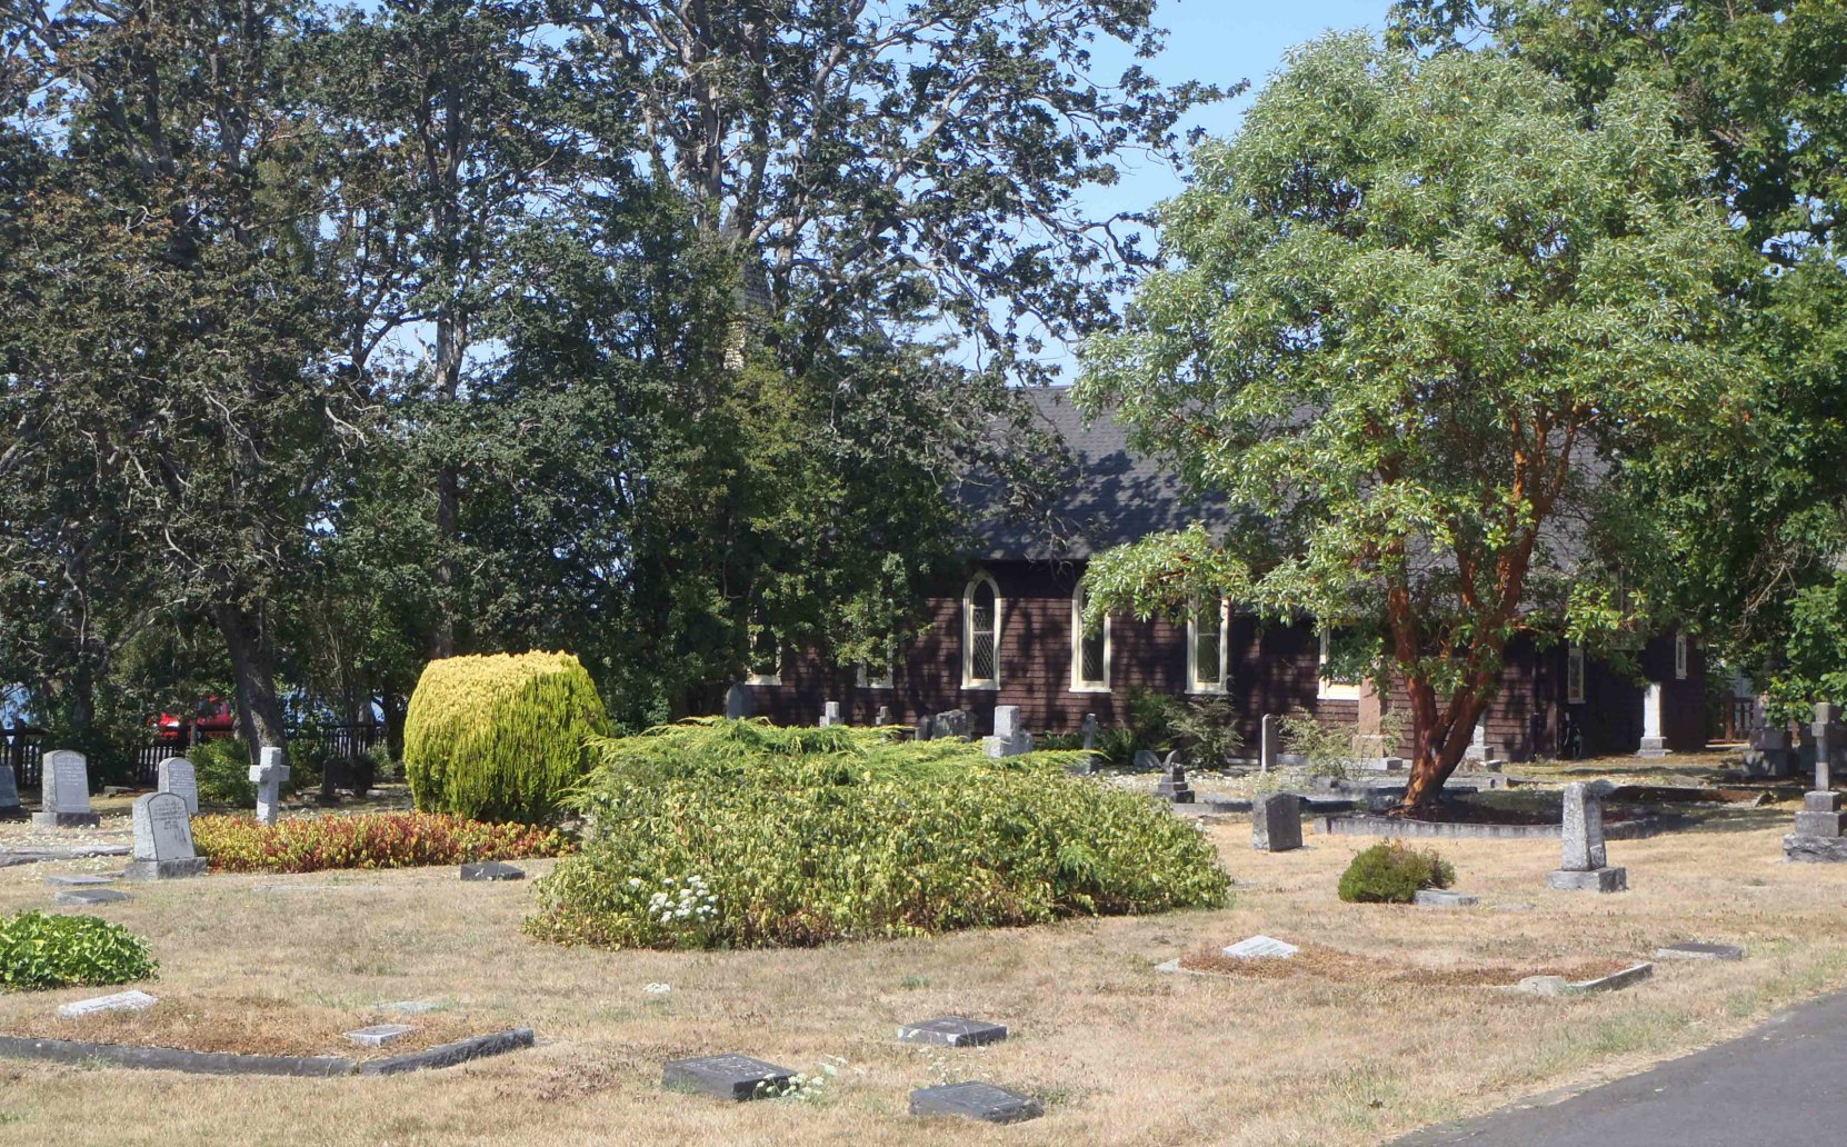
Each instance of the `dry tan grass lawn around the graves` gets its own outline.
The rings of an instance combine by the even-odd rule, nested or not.
[[[1439,911],[1339,903],[1335,879],[1369,840],[1311,835],[1304,851],[1263,855],[1249,824],[1226,822],[1208,831],[1237,879],[1230,911],[816,951],[560,949],[519,933],[530,883],[464,885],[453,868],[137,887],[96,914],[151,940],[161,979],[140,986],[163,1003],[92,1029],[50,1012],[100,992],[0,994],[0,1029],[340,1055],[338,1031],[401,1020],[377,1003],[436,999],[449,1007],[410,1020],[430,1034],[530,1025],[539,1047],[379,1081],[0,1060],[0,1143],[1378,1143],[1631,1071],[1847,986],[1847,866],[1781,863],[1786,826],[1786,811],[1727,809],[1694,831],[1614,840],[1633,890],[1601,898],[1546,888],[1555,842],[1437,842],[1459,890],[1483,898]],[[42,879],[59,870],[76,868],[0,870],[0,911],[48,907]],[[1322,966],[1341,973],[1153,970],[1252,933],[1332,949]],[[1468,986],[1478,968],[1640,960],[1681,938],[1749,955],[1660,964],[1596,997]],[[892,1040],[946,1012],[1012,1036],[953,1053]],[[827,1062],[839,1077],[815,1101],[661,1092],[663,1060],[718,1051],[800,1071]],[[1040,1095],[1047,1116],[949,1130],[905,1114],[911,1088],[960,1079]]]

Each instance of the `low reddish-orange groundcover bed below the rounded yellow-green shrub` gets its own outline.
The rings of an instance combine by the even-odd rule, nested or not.
[[[194,816],[192,844],[220,872],[416,868],[556,857],[563,835],[525,824],[482,824],[441,813],[297,816],[272,826],[246,816]]]

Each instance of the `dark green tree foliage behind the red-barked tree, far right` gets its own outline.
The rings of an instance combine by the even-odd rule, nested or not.
[[[1407,0],[1394,26],[1439,50],[1479,39],[1588,102],[1649,83],[1705,148],[1707,187],[1766,268],[1740,294],[1762,386],[1729,449],[1655,477],[1670,528],[1638,574],[1782,707],[1847,698],[1847,6]]]

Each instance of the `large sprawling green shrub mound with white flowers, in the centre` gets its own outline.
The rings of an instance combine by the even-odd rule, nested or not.
[[[1082,754],[693,720],[593,743],[582,851],[530,935],[610,948],[809,946],[1221,905],[1213,846]]]

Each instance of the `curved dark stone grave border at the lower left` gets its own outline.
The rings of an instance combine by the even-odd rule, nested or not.
[[[140,1047],[137,1044],[83,1044],[78,1040],[35,1040],[0,1036],[0,1056],[50,1064],[94,1064],[111,1068],[148,1068],[192,1075],[292,1075],[327,1079],[338,1075],[403,1075],[429,1068],[451,1068],[489,1055],[532,1047],[530,1027],[510,1027],[486,1036],[438,1044],[425,1051],[382,1060],[351,1060],[342,1055],[240,1055],[235,1051],[181,1051],[177,1047]]]

